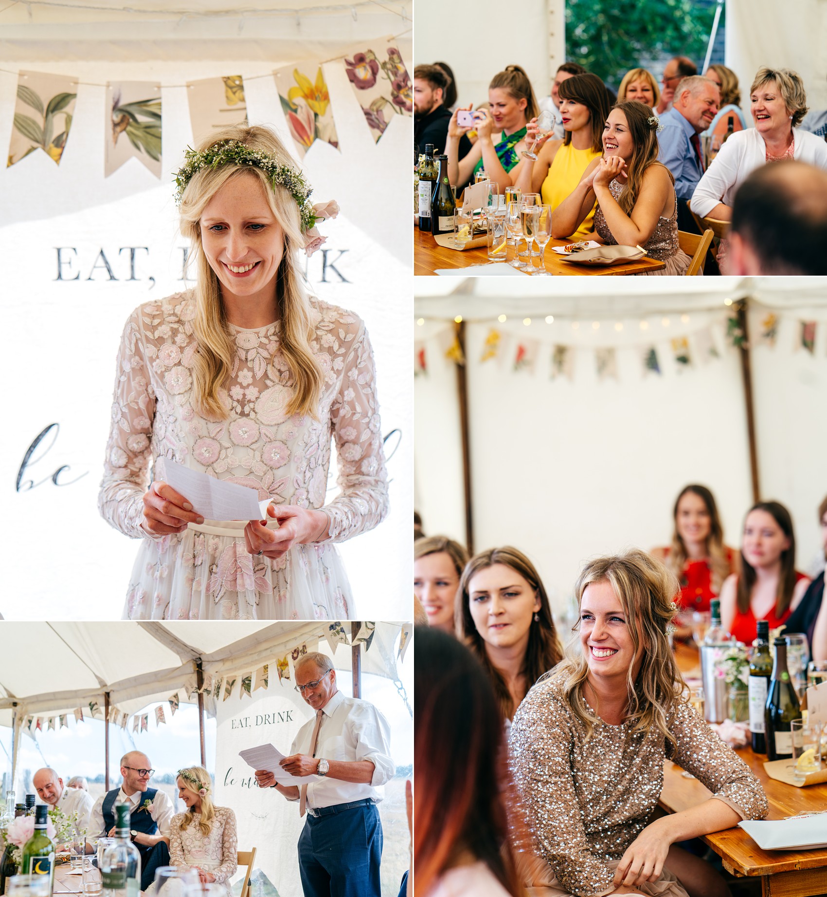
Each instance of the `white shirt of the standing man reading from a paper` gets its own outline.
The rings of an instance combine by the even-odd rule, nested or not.
[[[370,760],[374,763],[374,776],[369,785],[328,776],[308,782],[307,806],[316,809],[350,804],[368,797],[378,804],[384,797],[383,785],[396,771],[391,757],[391,727],[387,720],[373,704],[346,698],[341,692],[332,696],[322,714],[315,756],[324,760]],[[310,753],[314,726],[315,715],[298,730],[290,753]]]

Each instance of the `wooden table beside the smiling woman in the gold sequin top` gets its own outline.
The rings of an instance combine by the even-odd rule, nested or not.
[[[676,645],[676,659],[682,671],[697,664],[698,652],[685,645]],[[770,813],[767,819],[783,819],[802,812],[827,809],[827,783],[795,788],[771,779],[764,771],[765,756],[745,747],[738,756],[761,781]],[[698,779],[685,779],[681,768],[666,762],[660,806],[668,813],[677,813],[702,804],[711,792]],[[763,897],[810,897],[827,893],[827,850],[762,850],[739,828],[725,829],[702,839],[721,858],[732,875],[760,877]]]

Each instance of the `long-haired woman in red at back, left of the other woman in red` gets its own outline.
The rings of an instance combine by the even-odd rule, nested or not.
[[[672,544],[655,548],[651,554],[677,577],[681,611],[709,611],[724,579],[737,570],[737,553],[724,544],[718,507],[706,486],[685,486],[677,496],[672,517]]]

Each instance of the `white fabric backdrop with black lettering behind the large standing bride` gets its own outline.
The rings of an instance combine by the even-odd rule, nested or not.
[[[351,21],[349,14],[347,20]],[[166,27],[168,37],[174,38],[174,24]],[[130,29],[121,26],[121,34],[126,39]],[[365,36],[372,38],[375,33]],[[115,355],[130,311],[184,285],[179,280],[184,242],[177,234],[170,184],[171,172],[179,166],[192,135],[185,88],[163,87],[163,181],[159,183],[134,160],[104,179],[105,88],[83,83],[157,78],[162,84],[183,84],[238,73],[249,78],[269,74],[281,61],[218,55],[211,61],[169,61],[176,48],[181,57],[187,57],[198,46],[168,41],[158,51],[161,61],[81,61],[74,57],[75,48],[66,50],[69,61],[51,56],[47,61],[40,56],[18,60],[21,68],[73,74],[82,84],[60,167],[43,152],[34,152],[12,168],[0,170],[0,265],[4,271],[0,302],[7,324],[2,374],[10,387],[20,384],[0,454],[2,534],[9,559],[0,611],[6,618],[70,613],[82,619],[112,619],[122,612],[138,544],[108,527],[96,507]],[[330,43],[325,47],[328,57],[336,55]],[[401,41],[400,47],[403,58],[409,59],[409,45]],[[305,51],[297,48],[296,57]],[[54,55],[56,50],[52,47],[49,52]],[[98,45],[98,52],[105,57],[108,44]],[[327,283],[322,283],[321,252],[309,259],[307,276],[317,295],[366,320],[375,348],[383,432],[401,430],[400,448],[389,463],[389,517],[381,527],[343,544],[340,550],[354,588],[356,614],[401,617],[409,594],[409,557],[404,546],[411,509],[410,254],[407,221],[392,214],[392,209],[409,201],[411,119],[395,117],[375,145],[344,71],[338,65],[325,65],[325,74],[334,109],[340,110],[336,119],[340,152],[317,142],[306,154],[303,167],[314,187],[314,199],[336,198],[342,212],[324,227],[329,238],[325,248],[330,250]],[[249,80],[245,87],[250,121],[275,126],[291,145],[272,78]],[[16,78],[0,73],[0,145],[8,145],[15,91]],[[78,280],[56,281],[57,247],[77,249],[76,255],[64,254],[70,260],[64,277],[80,274]],[[125,247],[149,248],[149,253],[135,253],[134,282],[128,281],[129,250],[119,252]],[[109,280],[100,261],[89,279],[101,248],[117,282]],[[346,251],[340,256],[342,250]],[[31,491],[15,492],[15,478],[31,440],[52,422],[60,424],[56,441],[44,457],[55,435],[52,431],[24,476],[34,483],[45,482]],[[64,465],[69,468],[59,482],[82,478],[57,488],[49,477]],[[331,485],[335,489],[333,477]],[[12,596],[28,601],[13,601]]]

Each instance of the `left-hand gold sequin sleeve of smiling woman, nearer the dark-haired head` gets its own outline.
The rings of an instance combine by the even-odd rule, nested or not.
[[[614,873],[592,852],[574,784],[573,720],[550,683],[535,685],[513,719],[513,777],[540,855],[577,897],[614,890]]]

